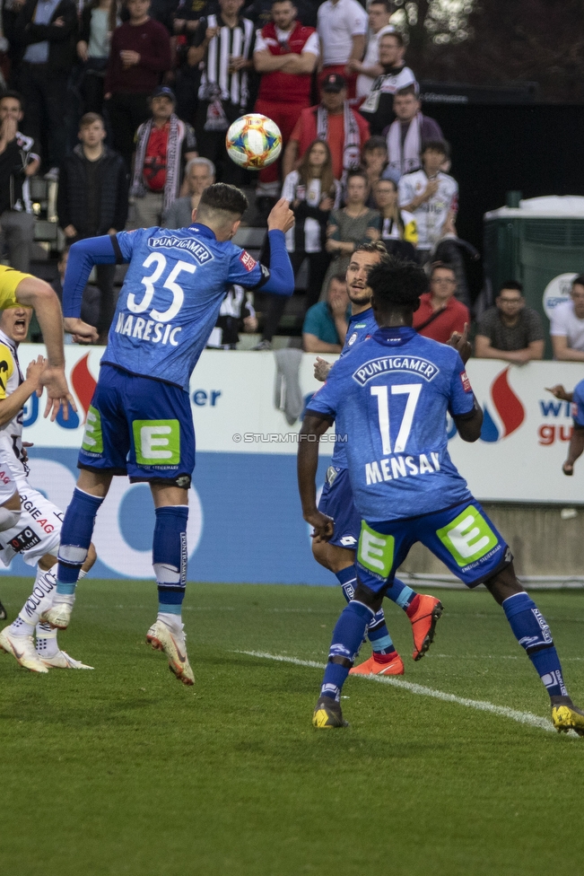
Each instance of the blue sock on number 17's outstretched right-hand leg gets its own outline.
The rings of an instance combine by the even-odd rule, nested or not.
[[[510,627],[550,696],[568,696],[563,683],[562,664],[544,616],[527,593],[514,593],[503,600],[503,610]]]

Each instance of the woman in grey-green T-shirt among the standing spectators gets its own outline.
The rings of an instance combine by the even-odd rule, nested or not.
[[[360,243],[379,240],[379,212],[367,206],[369,181],[366,171],[357,168],[347,173],[346,193],[346,206],[341,210],[332,210],[328,217],[327,252],[332,260],[327,268],[323,290],[327,289],[331,276],[344,274]]]

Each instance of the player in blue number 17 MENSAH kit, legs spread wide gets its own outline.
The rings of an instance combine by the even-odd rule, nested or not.
[[[450,346],[412,329],[426,277],[410,262],[374,267],[369,284],[379,329],[336,363],[301,429],[305,520],[321,538],[334,533],[334,522],[316,505],[318,442],[312,438],[333,420],[337,433],[348,435],[349,474],[362,515],[358,583],[333,633],[313,724],[346,726],[340,695],[354,655],[397,567],[421,541],[468,587],[484,583],[491,591],[547,689],[553,725],[584,736],[584,712],[568,696],[549,626],[519,584],[510,548],[449,457],[447,412],[464,441],[476,441],[483,423],[460,355],[465,361],[470,355],[466,329]]]

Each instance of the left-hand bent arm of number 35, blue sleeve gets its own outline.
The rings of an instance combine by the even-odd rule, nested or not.
[[[65,283],[63,284],[63,315],[65,331],[71,332],[74,340],[95,343],[97,329],[81,319],[83,290],[87,285],[94,265],[115,265],[127,261],[120,250],[115,234],[77,241],[69,250]]]

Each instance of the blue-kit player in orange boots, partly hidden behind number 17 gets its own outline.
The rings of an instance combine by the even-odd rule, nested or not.
[[[371,290],[367,277],[372,267],[387,258],[388,251],[380,241],[362,243],[353,252],[346,272],[352,316],[341,356],[357,344],[361,344],[377,330],[371,309]],[[317,380],[326,381],[332,367],[318,357],[314,369]],[[315,537],[312,540],[312,553],[320,565],[324,565],[336,574],[344,598],[349,602],[353,599],[356,585],[355,548],[361,532],[361,515],[353,502],[344,442],[335,444],[333,458],[327,469],[325,486],[318,503],[318,511],[327,514],[335,521],[335,533],[328,541]],[[407,614],[414,635],[412,656],[414,660],[420,660],[433,641],[436,623],[442,612],[440,600],[416,593],[397,578],[386,595]],[[404,662],[389,635],[383,609],[379,609],[370,622],[367,637],[370,640],[372,654],[369,660],[363,661],[359,666],[353,666],[350,674],[403,675]]]

